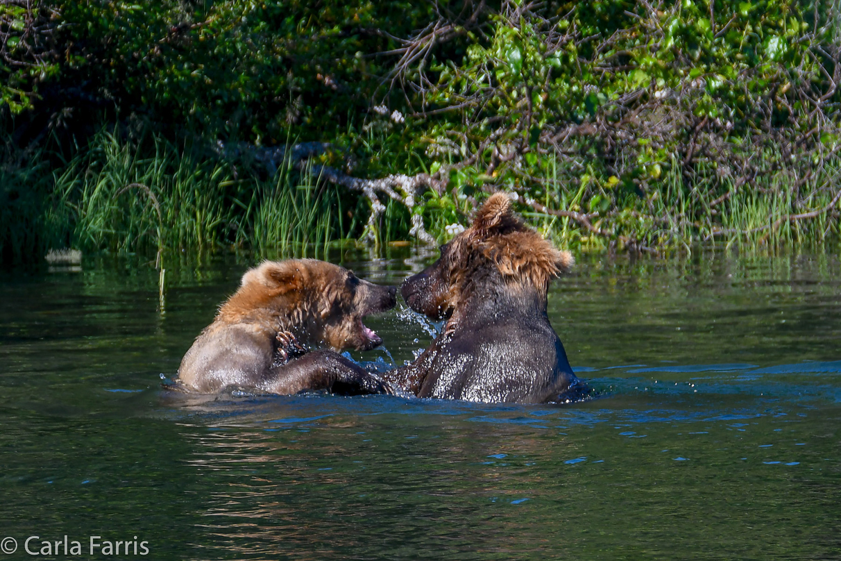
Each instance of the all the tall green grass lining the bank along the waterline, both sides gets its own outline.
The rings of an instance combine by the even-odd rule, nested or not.
[[[779,161],[779,155],[769,158]],[[762,161],[763,158],[758,158]],[[601,236],[578,222],[526,212],[559,246],[605,251],[622,240],[659,250],[721,242],[730,247],[817,247],[838,241],[838,210],[805,220],[791,215],[825,209],[841,188],[841,160],[805,175],[794,168],[759,169],[753,182],[735,183],[716,169],[698,167],[692,177],[677,161],[644,192],[621,192],[598,174],[579,183],[563,181],[557,161],[539,201],[549,209],[593,212],[593,202],[611,198],[607,212],[591,220],[611,231]],[[722,199],[722,196],[726,198]],[[721,199],[721,200],[718,200]],[[447,226],[465,224],[467,199],[429,192],[421,206],[426,228],[447,238]],[[312,169],[286,161],[273,176],[241,162],[222,161],[201,146],[174,144],[156,135],[125,140],[102,131],[69,161],[45,151],[13,151],[0,163],[0,255],[3,261],[33,261],[49,249],[73,247],[172,259],[220,248],[253,251],[259,257],[324,256],[353,243],[368,220],[368,202],[320,181]],[[378,241],[405,240],[410,213],[389,201],[380,217]]]

